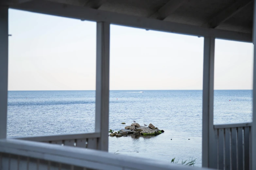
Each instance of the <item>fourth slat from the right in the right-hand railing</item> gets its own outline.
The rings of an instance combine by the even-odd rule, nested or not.
[[[225,170],[230,169],[230,128],[225,129]]]

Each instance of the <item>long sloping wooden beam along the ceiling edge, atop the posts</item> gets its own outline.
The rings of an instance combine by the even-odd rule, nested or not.
[[[247,33],[203,28],[194,25],[175,23],[170,21],[160,21],[156,19],[137,17],[126,14],[117,14],[115,12],[96,10],[87,7],[78,7],[68,4],[65,4],[65,7],[63,8],[62,4],[51,1],[31,1],[24,4],[11,5],[10,8],[79,20],[104,21],[111,24],[137,27],[148,30],[252,42],[252,35]]]

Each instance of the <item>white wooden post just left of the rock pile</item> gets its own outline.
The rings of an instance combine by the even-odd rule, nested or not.
[[[98,149],[109,147],[109,64],[110,23],[97,22],[95,132],[100,133]]]

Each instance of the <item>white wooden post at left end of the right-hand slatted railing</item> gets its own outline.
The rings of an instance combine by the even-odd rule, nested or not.
[[[212,159],[215,152],[213,129],[213,80],[214,80],[214,37],[204,37],[203,67],[203,122],[202,122],[202,166],[217,166]],[[217,155],[216,155],[217,156]],[[217,160],[217,158],[216,158]],[[215,163],[215,164],[214,164]]]

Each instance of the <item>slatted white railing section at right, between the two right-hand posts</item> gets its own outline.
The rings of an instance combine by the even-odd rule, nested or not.
[[[251,158],[251,123],[214,125],[218,169],[249,170]],[[217,156],[217,157],[215,157]]]

